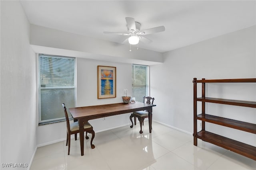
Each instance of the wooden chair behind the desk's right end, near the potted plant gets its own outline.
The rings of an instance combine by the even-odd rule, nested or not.
[[[147,100],[146,103],[147,104],[153,104],[154,102],[154,98],[152,97],[143,97],[144,103],[145,103],[145,99]],[[140,121],[140,133],[143,133],[142,131],[142,124],[144,125],[144,119],[148,117],[148,111],[135,111],[130,115],[130,120],[132,122],[132,117],[134,117],[134,125],[136,125],[136,117],[138,118],[138,120]],[[133,127],[133,122],[132,125],[130,126],[131,128]]]

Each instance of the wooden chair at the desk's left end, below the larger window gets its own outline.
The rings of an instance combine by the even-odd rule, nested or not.
[[[79,125],[78,125],[78,121],[74,121],[74,123],[69,123],[68,112],[67,112],[65,104],[62,104],[62,107],[64,108],[65,117],[66,117],[66,121],[67,121],[67,141],[66,141],[66,146],[68,145],[68,155],[69,155],[69,152],[70,152],[70,136],[72,134],[75,134],[75,140],[76,140],[77,133],[79,133]],[[92,125],[90,125],[90,123],[84,123],[84,131],[86,132],[85,139],[89,139],[89,137],[87,136],[87,132],[92,134],[91,148],[94,149],[95,146],[92,145],[92,141],[94,139],[95,132],[93,130]]]

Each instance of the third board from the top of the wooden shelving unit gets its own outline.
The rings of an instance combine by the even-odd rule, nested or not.
[[[218,116],[208,115],[208,114],[197,115],[197,119],[256,134],[256,124],[253,124],[253,123],[237,121],[233,119],[228,119],[228,118],[218,117]]]

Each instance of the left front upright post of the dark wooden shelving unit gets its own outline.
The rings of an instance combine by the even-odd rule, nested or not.
[[[197,146],[197,86],[196,86],[196,78],[193,80],[194,84],[194,145]]]

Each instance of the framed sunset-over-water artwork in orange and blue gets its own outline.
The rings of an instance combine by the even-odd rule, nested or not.
[[[116,98],[116,67],[98,66],[98,99]]]

